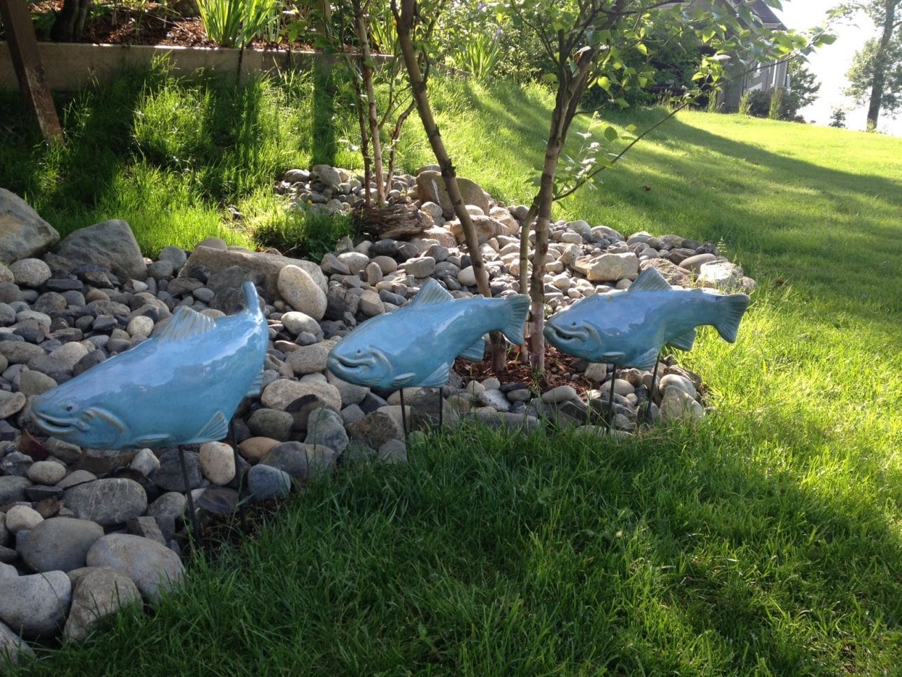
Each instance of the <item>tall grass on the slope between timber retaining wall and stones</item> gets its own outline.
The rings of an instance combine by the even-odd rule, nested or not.
[[[52,147],[24,124],[19,99],[5,94],[0,185],[63,236],[122,218],[146,255],[213,235],[253,246],[254,227],[283,217],[274,183],[310,164],[311,90],[308,76],[295,72],[238,84],[177,77],[157,60],[69,98],[61,115],[66,144]],[[343,124],[336,123],[342,131]],[[342,151],[338,160],[353,166],[354,155]]]

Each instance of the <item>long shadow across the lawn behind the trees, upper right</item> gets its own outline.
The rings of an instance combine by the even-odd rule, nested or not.
[[[517,195],[510,195],[510,171],[538,167],[548,97],[538,89],[503,84],[490,96],[469,81],[449,89],[449,97],[457,99],[449,118],[491,134],[489,164],[498,176],[508,172],[503,186],[491,172],[481,176],[487,190],[529,203],[532,190],[525,181]],[[636,124],[640,131],[665,116],[661,107],[603,112],[608,121]],[[571,142],[579,141],[575,133],[585,123],[585,116],[577,118]],[[774,126],[774,134],[805,129]],[[902,296],[882,292],[888,280],[902,276],[902,239],[893,225],[902,207],[897,199],[902,181],[805,162],[711,134],[678,116],[601,178],[599,190],[582,189],[558,203],[557,213],[621,227],[624,235],[676,232],[725,243],[726,255],[750,276],[801,287],[826,304],[821,312],[879,324],[902,313]]]

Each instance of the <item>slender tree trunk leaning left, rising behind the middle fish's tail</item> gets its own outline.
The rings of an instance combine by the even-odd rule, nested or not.
[[[410,88],[413,91],[414,100],[417,102],[419,119],[423,123],[429,145],[432,147],[432,152],[435,153],[438,166],[441,168],[442,179],[445,181],[445,188],[454,206],[456,217],[460,219],[460,225],[464,230],[466,247],[469,250],[470,260],[473,262],[473,270],[476,276],[476,287],[483,296],[490,297],[492,296],[492,289],[489,287],[489,276],[485,271],[483,255],[479,250],[479,242],[476,239],[476,229],[473,226],[473,220],[470,218],[469,212],[465,209],[464,199],[457,186],[454,164],[452,164],[451,158],[446,151],[445,143],[438,132],[435,116],[432,115],[432,107],[429,105],[426,91],[426,82],[423,80],[423,74],[419,68],[417,54],[410,35],[413,28],[414,14],[416,13],[416,2],[415,0],[400,0],[400,2],[399,0],[391,0],[391,13],[394,14],[395,23],[397,24],[401,56],[404,59],[408,78],[410,78]],[[490,337],[492,339],[492,370],[496,374],[502,374],[506,369],[504,338],[502,338],[500,331],[493,331]]]

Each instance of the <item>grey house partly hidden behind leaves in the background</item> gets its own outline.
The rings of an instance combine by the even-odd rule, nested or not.
[[[676,0],[674,3],[688,5],[692,7],[700,7],[702,9],[710,8],[718,5],[721,8],[735,10],[739,5],[745,5],[751,10],[752,14],[758,16],[761,24],[765,29],[771,31],[786,31],[787,27],[774,14],[773,10],[763,0]],[[741,75],[744,71],[754,68],[744,77]],[[789,88],[788,64],[786,61],[778,63],[758,63],[748,64],[739,63],[734,59],[727,64],[728,77],[732,79],[725,83],[723,89],[717,95],[718,109],[724,112],[735,112],[739,110],[741,97],[746,92],[752,92],[760,89],[764,94],[768,94],[775,88]]]

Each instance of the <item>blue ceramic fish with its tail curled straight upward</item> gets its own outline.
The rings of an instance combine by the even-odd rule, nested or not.
[[[258,394],[269,339],[257,290],[246,308],[213,320],[179,306],[143,343],[38,395],[32,422],[95,449],[222,440],[245,395]]]

